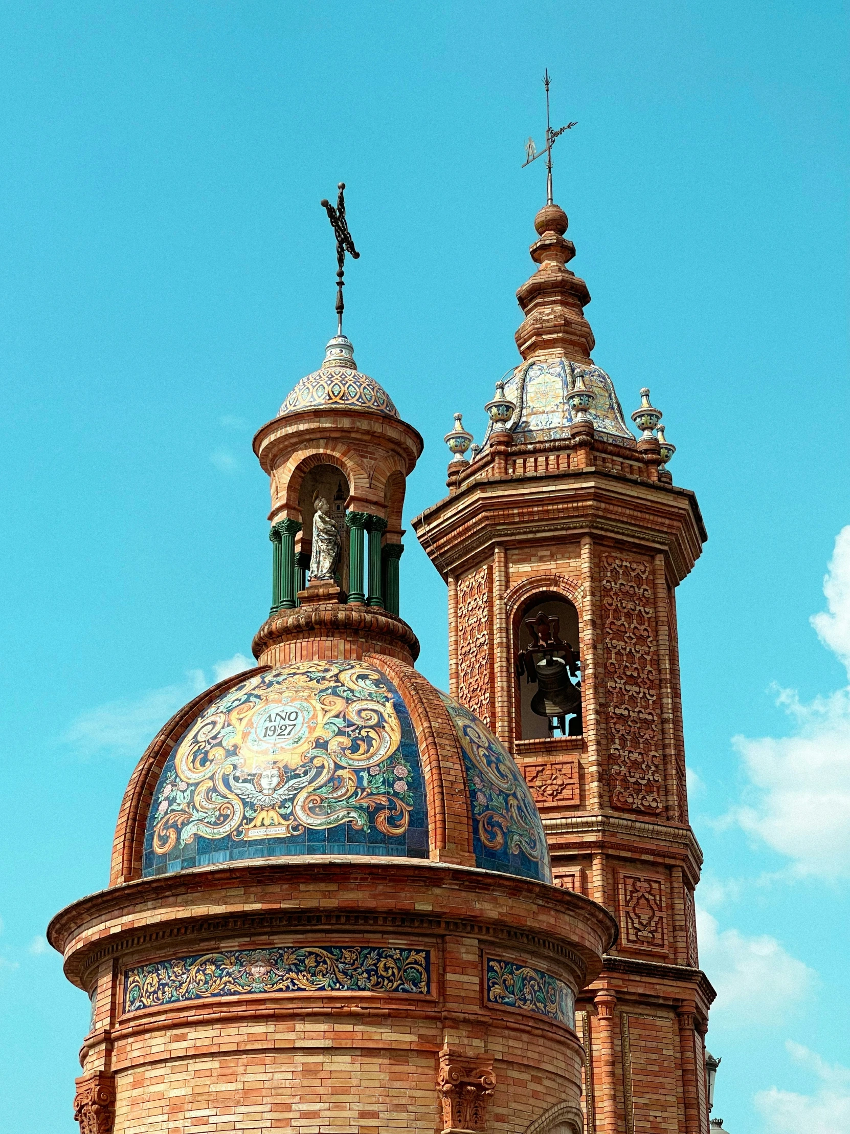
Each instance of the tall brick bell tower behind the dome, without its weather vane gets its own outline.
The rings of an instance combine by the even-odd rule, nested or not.
[[[567,227],[555,204],[537,213],[522,361],[481,447],[456,415],[449,496],[413,526],[449,586],[451,694],[521,768],[555,883],[620,925],[578,1004],[586,1129],[705,1134],[714,990],[697,958],[675,587],[706,532],[665,468],[649,391],[636,440],[590,357]]]

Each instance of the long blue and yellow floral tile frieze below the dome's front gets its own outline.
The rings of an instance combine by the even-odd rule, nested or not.
[[[272,992],[402,992],[428,996],[431,951],[363,946],[235,949],[129,968],[124,1010]]]

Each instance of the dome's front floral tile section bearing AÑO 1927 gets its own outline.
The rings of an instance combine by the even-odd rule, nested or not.
[[[428,854],[409,713],[359,662],[295,662],[214,701],[162,770],[143,875],[308,854]]]

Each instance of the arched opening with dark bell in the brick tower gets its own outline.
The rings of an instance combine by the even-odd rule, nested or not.
[[[518,739],[581,736],[579,621],[559,594],[537,594],[520,609],[517,643]]]

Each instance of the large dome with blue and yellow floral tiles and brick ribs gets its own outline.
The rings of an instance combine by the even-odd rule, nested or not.
[[[228,679],[165,726],[130,792],[143,782],[143,877],[304,855],[445,861],[454,848],[458,862],[552,880],[537,807],[508,751],[384,655]],[[452,782],[466,790],[444,790]]]

